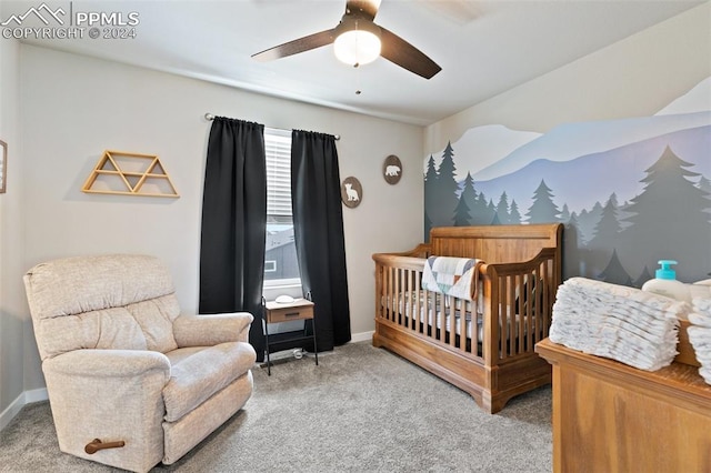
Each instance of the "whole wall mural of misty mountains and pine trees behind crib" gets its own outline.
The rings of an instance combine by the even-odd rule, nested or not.
[[[672,259],[681,281],[708,279],[709,98],[711,78],[653,117],[564,124],[522,140],[507,130],[523,144],[500,157],[481,143],[501,140],[501,127],[470,130],[425,159],[424,233],[562,222],[564,278],[639,288],[658,260]]]

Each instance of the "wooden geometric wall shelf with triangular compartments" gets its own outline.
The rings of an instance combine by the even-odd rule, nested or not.
[[[180,197],[157,155],[109,150],[81,190],[97,194]]]

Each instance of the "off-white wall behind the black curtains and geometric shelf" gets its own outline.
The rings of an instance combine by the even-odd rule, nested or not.
[[[341,179],[354,175],[363,187],[360,207],[343,209],[351,332],[374,329],[371,254],[421,239],[421,127],[26,44],[21,80],[24,266],[76,254],[156,254],[170,265],[183,310],[196,311],[204,113],[340,134]],[[82,193],[107,149],[158,154],[180,199]],[[381,174],[389,154],[403,162],[397,185]],[[37,356],[29,364],[30,385],[41,385]]]

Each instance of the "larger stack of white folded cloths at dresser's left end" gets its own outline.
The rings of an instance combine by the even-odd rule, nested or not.
[[[558,289],[550,340],[657,371],[674,360],[679,319],[689,310],[687,302],[652,292],[571,278]]]

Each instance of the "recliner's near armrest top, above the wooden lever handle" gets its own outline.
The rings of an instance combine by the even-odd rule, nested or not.
[[[136,378],[163,372],[170,379],[170,361],[160,352],[143,350],[74,350],[47,359],[44,370],[84,378]]]

